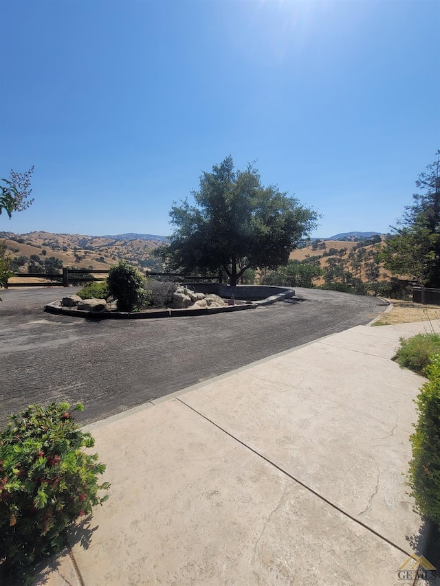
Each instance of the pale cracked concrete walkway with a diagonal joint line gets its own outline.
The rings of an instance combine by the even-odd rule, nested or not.
[[[425,379],[391,358],[424,327],[357,326],[89,426],[109,501],[36,584],[410,583]]]

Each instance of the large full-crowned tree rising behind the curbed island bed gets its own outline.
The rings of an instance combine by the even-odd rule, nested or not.
[[[276,269],[318,223],[318,214],[282,193],[264,187],[253,164],[234,170],[226,157],[203,172],[199,190],[173,205],[175,231],[157,254],[173,269],[204,273],[222,269],[236,285],[247,269]]]

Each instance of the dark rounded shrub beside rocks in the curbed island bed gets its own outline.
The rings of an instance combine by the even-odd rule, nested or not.
[[[110,295],[118,300],[118,311],[133,311],[148,305],[148,295],[142,287],[144,277],[128,262],[120,260],[113,265],[107,282]]]

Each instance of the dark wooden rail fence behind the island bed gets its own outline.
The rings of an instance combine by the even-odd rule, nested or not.
[[[19,282],[9,284],[7,283],[5,289],[8,289],[8,285],[10,287],[68,287],[69,285],[73,285],[76,283],[79,284],[91,281],[103,281],[103,277],[94,277],[93,275],[107,275],[108,273],[108,269],[67,269],[67,267],[63,267],[62,273],[13,273],[14,277],[49,279],[52,282]],[[148,269],[146,269],[145,274],[147,277],[181,278],[183,282],[188,282],[190,280],[219,280],[219,282],[221,282],[221,275],[219,275],[218,277],[214,277],[202,275],[185,275],[184,273],[159,273],[157,271],[148,271]],[[71,275],[83,275],[83,277]]]

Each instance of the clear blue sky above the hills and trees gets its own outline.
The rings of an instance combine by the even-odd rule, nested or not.
[[[229,153],[387,232],[440,146],[439,0],[1,0],[0,230],[169,234]]]

